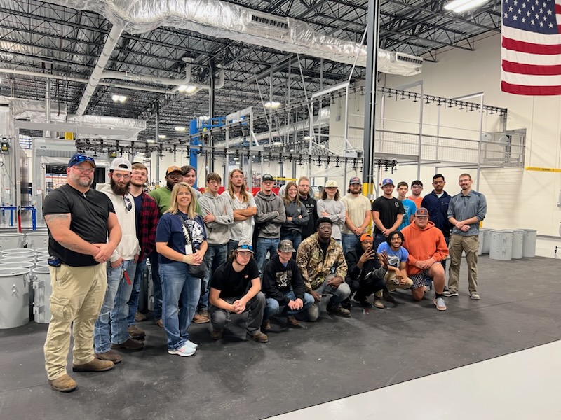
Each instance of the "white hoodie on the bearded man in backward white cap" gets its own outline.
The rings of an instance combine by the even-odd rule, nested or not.
[[[109,197],[109,200],[113,203],[117,221],[119,221],[121,232],[123,233],[119,245],[117,245],[115,251],[111,254],[111,262],[119,260],[119,257],[126,261],[134,260],[135,255],[140,253],[140,245],[136,237],[135,198],[130,195],[130,193],[126,193],[125,197],[128,197],[128,200],[130,200],[132,204],[130,210],[127,210],[124,197],[122,195],[116,195],[111,189],[111,184],[97,184],[95,189],[107,194],[107,197]]]

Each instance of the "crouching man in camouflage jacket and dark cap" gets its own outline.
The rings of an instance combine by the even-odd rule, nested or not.
[[[306,292],[316,301],[308,309],[308,319],[312,322],[319,318],[323,293],[332,294],[327,312],[346,318],[351,316],[351,311],[341,306],[351,295],[351,288],[345,283],[347,265],[343,248],[331,237],[332,225],[330,218],[318,218],[316,234],[304,239],[296,254]]]

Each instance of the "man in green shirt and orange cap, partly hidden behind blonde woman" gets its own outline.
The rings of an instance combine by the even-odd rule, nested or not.
[[[183,180],[183,172],[180,167],[171,165],[165,171],[165,187],[156,188],[151,190],[148,195],[156,200],[158,205],[158,216],[161,217],[170,208],[171,190],[176,183]],[[154,284],[154,321],[158,327],[163,328],[162,322],[162,283],[160,281],[160,274],[158,270],[158,253],[156,248],[149,256],[150,267],[152,270],[152,283]]]

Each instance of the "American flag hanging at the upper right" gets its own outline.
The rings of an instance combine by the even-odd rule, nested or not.
[[[561,0],[503,0],[501,90],[561,94]]]

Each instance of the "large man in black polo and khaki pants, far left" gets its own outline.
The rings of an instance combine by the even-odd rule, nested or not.
[[[111,361],[95,358],[93,324],[107,288],[104,263],[121,241],[121,227],[107,195],[90,189],[94,171],[93,158],[76,153],[68,162],[67,184],[48,193],[43,203],[53,285],[45,368],[48,383],[60,392],[77,387],[66,372],[71,329],[74,372],[103,372],[114,367]]]

